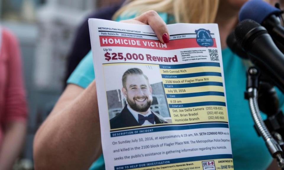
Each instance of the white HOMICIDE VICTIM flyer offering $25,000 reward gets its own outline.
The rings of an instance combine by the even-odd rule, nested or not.
[[[106,169],[233,169],[217,24],[89,19]]]

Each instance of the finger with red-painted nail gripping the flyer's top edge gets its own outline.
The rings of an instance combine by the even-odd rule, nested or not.
[[[134,20],[149,24],[162,43],[169,42],[170,34],[168,32],[167,25],[156,11],[150,10],[144,12],[140,16],[135,17]]]

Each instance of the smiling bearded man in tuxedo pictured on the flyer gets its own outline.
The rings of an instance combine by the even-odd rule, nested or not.
[[[161,115],[150,109],[153,102],[152,87],[141,69],[130,68],[125,71],[122,85],[122,93],[128,104],[110,120],[111,129],[167,123]]]

